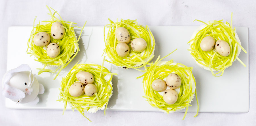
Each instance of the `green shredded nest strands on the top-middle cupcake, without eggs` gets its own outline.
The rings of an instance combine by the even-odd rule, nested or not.
[[[110,24],[104,26],[104,41],[106,46],[106,48],[104,49],[104,53],[106,53],[106,55],[110,58],[111,61],[106,61],[113,63],[118,67],[123,67],[127,69],[132,68],[141,71],[137,68],[145,66],[154,57],[153,54],[155,47],[155,39],[152,32],[150,31],[147,25],[145,27],[138,25],[138,22],[136,20],[121,19],[121,22],[118,22],[118,19],[117,22],[113,22],[110,19],[108,20],[110,21]],[[131,49],[131,44],[128,44],[128,46],[130,47],[130,54],[124,58],[118,56],[117,52],[115,51],[115,48],[119,42],[115,38],[115,30],[119,27],[124,27],[129,31],[131,35],[131,40],[135,38],[143,38],[147,42],[146,49],[142,52],[136,52],[133,49]],[[107,36],[105,34],[106,28],[109,28]]]

